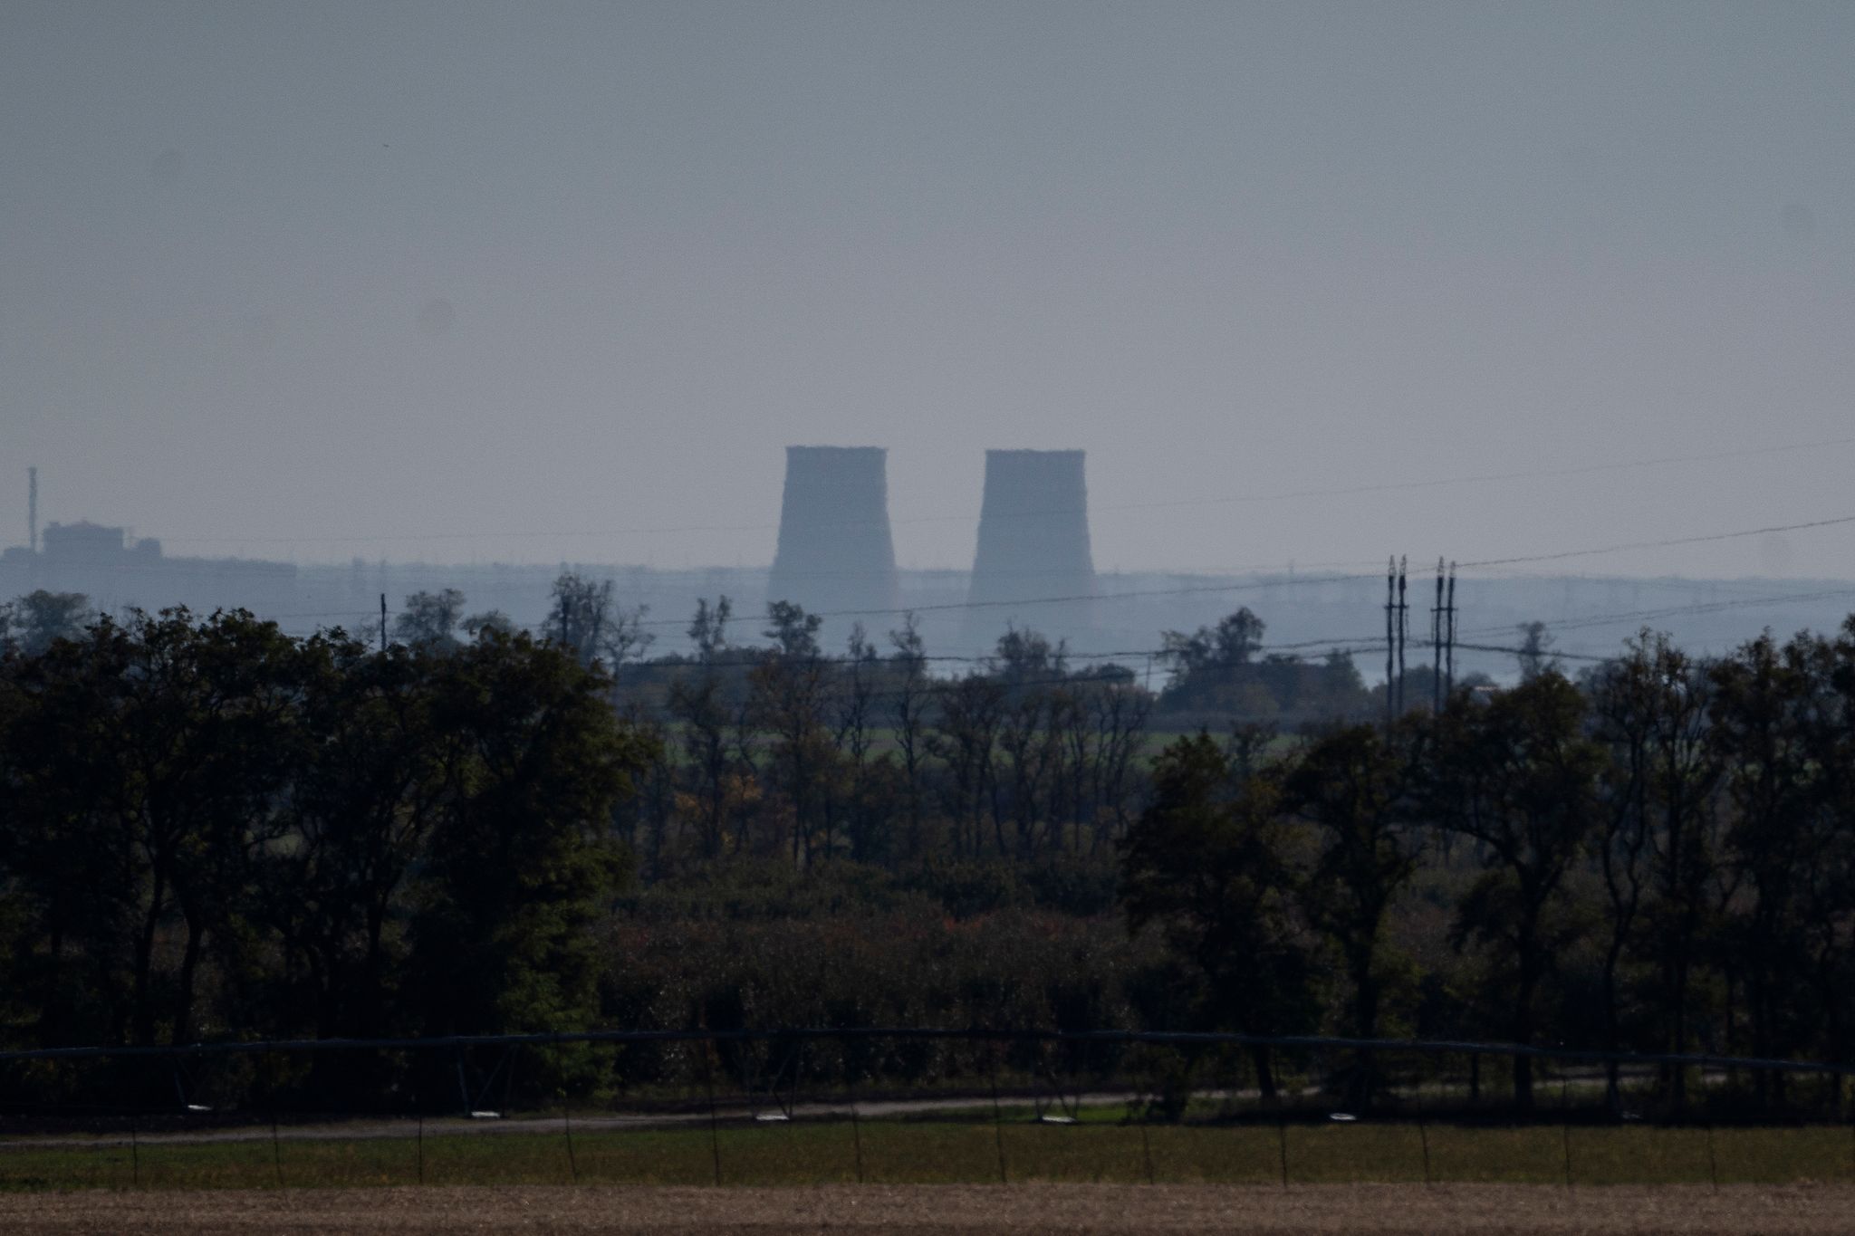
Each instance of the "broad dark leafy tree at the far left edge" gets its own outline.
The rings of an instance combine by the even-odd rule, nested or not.
[[[191,1041],[208,945],[239,930],[278,832],[295,660],[275,623],[171,610],[100,619],[20,665],[6,858],[45,915],[48,978],[91,969],[96,1038]],[[45,1008],[65,1015],[56,995]]]

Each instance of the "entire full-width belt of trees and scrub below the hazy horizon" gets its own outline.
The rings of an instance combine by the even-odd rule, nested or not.
[[[788,602],[735,624],[705,600],[649,658],[573,574],[538,632],[425,593],[384,650],[22,599],[0,1038],[903,1019],[1849,1056],[1855,621],[1714,660],[1644,632],[1577,678],[1536,632],[1516,686],[1389,728],[1343,654],[1261,656],[1248,612],[1169,634],[1159,693],[1030,630],[950,675],[913,621],[842,654]],[[1219,725],[1161,747],[1167,713]]]

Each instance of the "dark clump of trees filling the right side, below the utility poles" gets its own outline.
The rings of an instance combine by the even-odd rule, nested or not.
[[[1208,1023],[1848,1060],[1855,619],[1712,662],[1645,632],[1261,763],[1182,739],[1124,858]]]

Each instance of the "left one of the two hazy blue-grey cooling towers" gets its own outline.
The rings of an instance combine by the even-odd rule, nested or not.
[[[881,447],[787,447],[768,600],[796,600],[812,613],[894,608],[885,460]],[[883,621],[879,613],[863,619],[870,630],[883,630]]]

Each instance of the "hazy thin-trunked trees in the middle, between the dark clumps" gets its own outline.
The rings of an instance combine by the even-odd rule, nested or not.
[[[946,678],[913,624],[887,652],[857,634],[844,658],[820,654],[816,628],[775,602],[772,647],[629,671],[662,686],[659,710],[636,689],[629,704],[657,739],[621,821],[647,878],[731,856],[896,869],[1111,851],[1137,810],[1152,704],[1128,671],[1072,671],[1061,645],[1011,632],[994,662]]]

